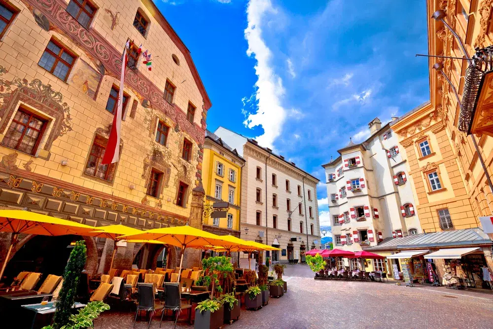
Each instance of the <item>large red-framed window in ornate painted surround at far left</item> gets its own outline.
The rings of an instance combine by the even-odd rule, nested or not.
[[[31,112],[19,108],[1,144],[21,152],[35,154],[46,128],[46,122]]]

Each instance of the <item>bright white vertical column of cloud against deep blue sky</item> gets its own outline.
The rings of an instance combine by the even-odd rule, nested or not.
[[[272,52],[262,38],[262,26],[267,14],[277,14],[277,9],[270,0],[250,0],[246,8],[248,26],[245,29],[245,39],[248,42],[246,54],[254,56],[257,64],[255,74],[256,112],[249,113],[244,124],[248,128],[262,126],[264,133],[255,139],[266,147],[273,148],[273,143],[281,135],[282,124],[286,118],[286,110],[281,105],[284,96],[282,79],[271,66]]]

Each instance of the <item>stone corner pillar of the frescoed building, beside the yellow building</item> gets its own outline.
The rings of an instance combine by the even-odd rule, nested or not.
[[[202,229],[202,212],[204,210],[204,196],[206,191],[202,186],[202,180],[199,179],[199,184],[192,190],[192,202],[190,205],[190,219],[188,225]],[[178,257],[180,255],[178,254]],[[183,256],[183,268],[192,268],[194,266],[202,268],[201,262],[202,250],[188,248]],[[177,259],[179,264],[179,259]]]

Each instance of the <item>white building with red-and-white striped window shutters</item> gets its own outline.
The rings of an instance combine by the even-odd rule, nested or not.
[[[397,137],[378,118],[368,127],[365,142],[350,141],[337,159],[322,165],[334,248],[359,251],[387,237],[422,233]]]

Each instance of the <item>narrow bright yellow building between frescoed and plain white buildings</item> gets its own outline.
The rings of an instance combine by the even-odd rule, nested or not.
[[[240,237],[241,171],[245,160],[218,136],[206,131],[202,183],[206,191],[203,229]],[[212,204],[228,202],[225,218],[212,218]]]

